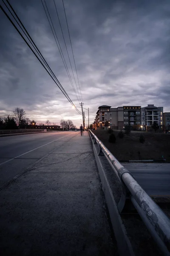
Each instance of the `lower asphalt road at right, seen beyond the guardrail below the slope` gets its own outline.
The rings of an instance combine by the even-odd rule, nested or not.
[[[170,197],[170,163],[122,163],[149,195]]]

